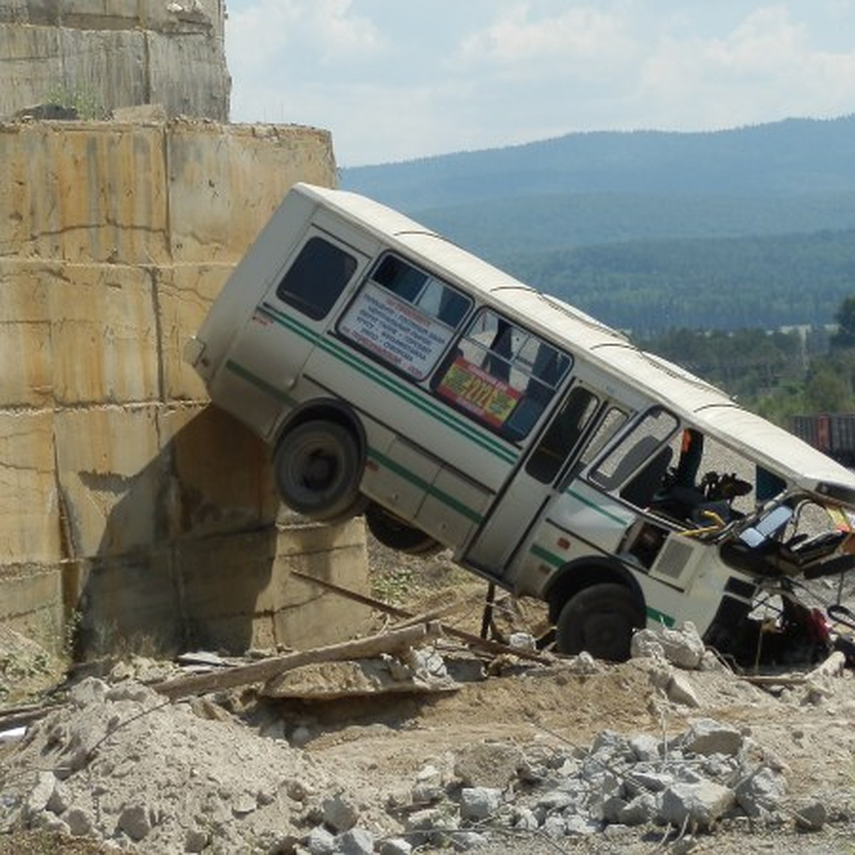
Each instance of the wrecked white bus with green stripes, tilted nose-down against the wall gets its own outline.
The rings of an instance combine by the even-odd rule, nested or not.
[[[738,661],[828,645],[803,580],[855,565],[852,472],[379,203],[294,186],[186,357],[285,504],[450,549],[563,652],[686,621]]]

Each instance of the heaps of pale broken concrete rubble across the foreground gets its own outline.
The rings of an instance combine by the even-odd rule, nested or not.
[[[423,764],[396,792],[315,756],[298,728],[291,736],[269,722],[251,728],[210,699],[174,702],[134,679],[88,677],[6,758],[0,828],[135,852],[405,855],[468,851],[503,835],[704,834],[748,819],[819,831],[828,822],[822,801],[788,800],[787,769],[770,752],[709,717],[673,735],[604,729],[590,746],[476,742]]]

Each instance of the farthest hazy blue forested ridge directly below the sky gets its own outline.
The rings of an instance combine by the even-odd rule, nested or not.
[[[345,169],[342,185],[407,212],[541,194],[855,192],[855,115],[710,133],[572,133],[502,149]]]

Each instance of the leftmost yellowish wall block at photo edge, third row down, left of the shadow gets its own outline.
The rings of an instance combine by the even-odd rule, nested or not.
[[[62,557],[53,413],[0,411],[0,564]]]

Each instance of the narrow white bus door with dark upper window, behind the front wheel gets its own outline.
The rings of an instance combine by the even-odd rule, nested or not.
[[[581,449],[600,405],[598,396],[583,383],[570,387],[469,546],[466,557],[471,563],[496,577],[509,575],[514,552],[555,492],[558,474]]]

